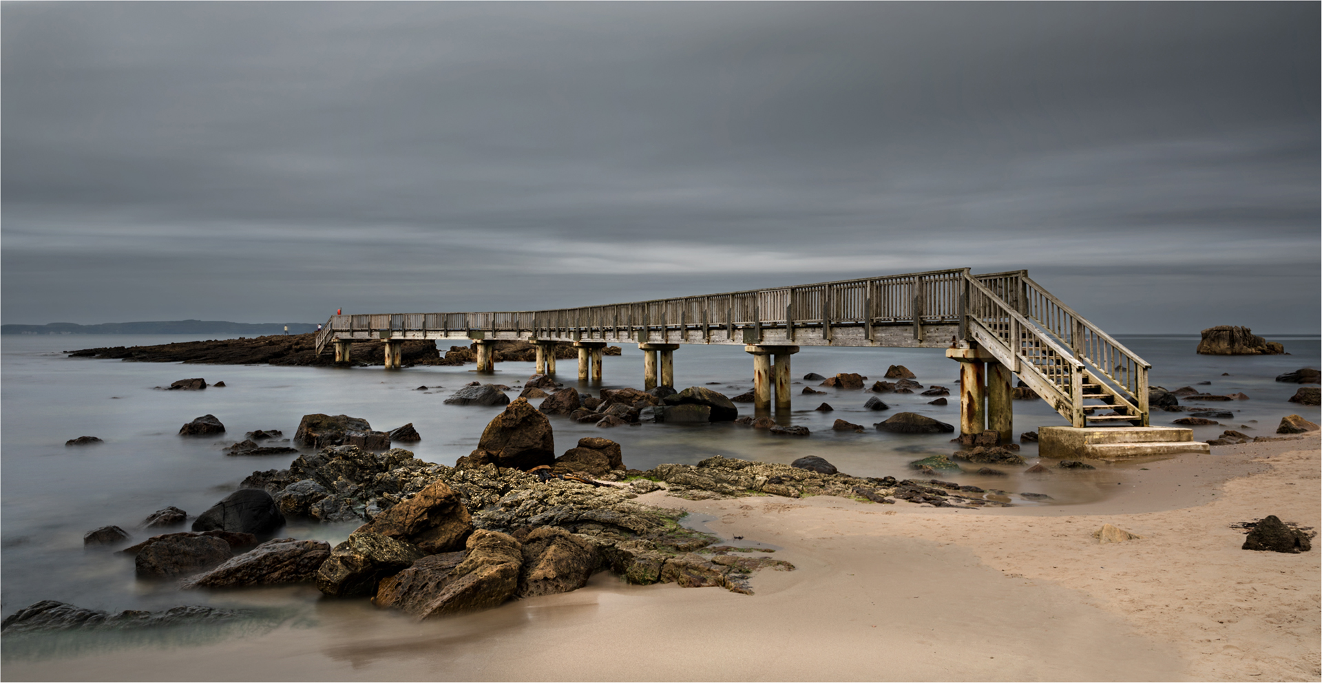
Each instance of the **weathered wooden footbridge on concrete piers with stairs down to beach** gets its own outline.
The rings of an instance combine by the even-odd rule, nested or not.
[[[650,351],[664,354],[661,377],[673,347],[686,343],[742,345],[763,358],[776,355],[777,369],[784,357],[779,374],[788,374],[788,355],[798,346],[947,349],[969,370],[961,428],[1009,423],[1001,390],[1009,391],[1001,384],[1011,374],[1075,427],[1146,425],[1149,416],[1151,366],[1027,271],[974,275],[958,268],[551,310],[332,316],[317,350],[336,346],[348,354],[352,342],[369,340],[387,340],[395,349],[405,340],[524,340],[584,350],[635,342],[652,367]],[[591,362],[580,351],[580,377],[586,358]],[[600,378],[599,357],[594,374]],[[783,379],[788,387],[788,375]],[[788,395],[779,394],[777,402],[788,406]]]

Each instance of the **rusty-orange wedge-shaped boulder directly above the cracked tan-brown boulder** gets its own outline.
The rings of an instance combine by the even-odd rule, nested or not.
[[[473,518],[446,482],[435,481],[357,531],[403,540],[435,555],[463,548],[473,531]]]

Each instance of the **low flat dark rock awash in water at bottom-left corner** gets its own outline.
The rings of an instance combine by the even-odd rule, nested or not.
[[[4,622],[0,622],[0,633],[4,635],[19,635],[65,630],[144,629],[180,626],[185,624],[219,624],[247,616],[250,613],[246,610],[202,605],[177,606],[165,612],[126,609],[118,614],[110,614],[99,609],[79,608],[56,600],[42,600],[5,617]]]

